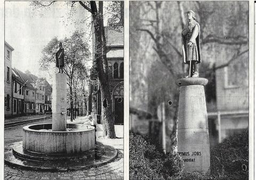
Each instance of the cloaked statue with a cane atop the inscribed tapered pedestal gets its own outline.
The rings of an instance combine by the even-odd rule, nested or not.
[[[195,13],[190,10],[187,12],[188,22],[182,30],[182,55],[183,63],[188,64],[188,77],[199,77],[198,63],[201,62],[200,53],[200,26],[195,21]]]

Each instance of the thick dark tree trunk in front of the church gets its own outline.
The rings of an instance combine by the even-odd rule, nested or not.
[[[98,78],[102,96],[102,124],[103,124],[103,136],[107,138],[115,138],[114,119],[112,117],[111,96],[109,92],[108,84],[108,62],[106,58],[106,38],[103,28],[103,2],[99,2],[100,14],[97,11],[97,6],[94,1],[90,2],[92,10],[92,18],[94,22],[94,35],[95,35],[95,59],[96,70],[98,72]],[[103,31],[102,31],[103,30]],[[102,43],[103,40],[103,43]],[[102,62],[103,60],[103,62]]]

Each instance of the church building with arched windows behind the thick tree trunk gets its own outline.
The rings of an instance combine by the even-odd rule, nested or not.
[[[107,43],[107,60],[109,70],[109,90],[111,92],[112,114],[115,124],[124,123],[124,28],[105,27]],[[94,42],[94,41],[93,41]],[[97,114],[98,123],[101,123],[101,91],[97,76],[91,69],[91,81],[89,85],[88,113]]]

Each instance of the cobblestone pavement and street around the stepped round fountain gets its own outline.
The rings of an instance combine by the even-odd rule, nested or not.
[[[49,122],[51,120],[45,120],[45,123]],[[43,123],[43,121],[30,124],[37,123]],[[22,140],[23,126],[25,125],[5,128],[5,145]],[[99,129],[102,129],[101,125],[99,125]],[[85,170],[59,172],[25,170],[5,165],[4,179],[123,179],[123,126],[115,125],[115,131],[118,138],[113,140],[106,140],[102,138],[101,131],[97,132],[97,141],[114,146],[118,150],[117,158],[107,165]]]

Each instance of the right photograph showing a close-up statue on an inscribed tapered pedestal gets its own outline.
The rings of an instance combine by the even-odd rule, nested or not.
[[[249,179],[249,1],[130,1],[130,179]]]

